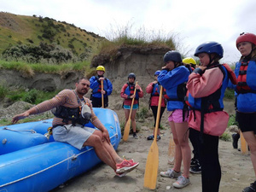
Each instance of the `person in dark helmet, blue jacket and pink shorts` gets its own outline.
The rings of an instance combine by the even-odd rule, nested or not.
[[[168,51],[164,55],[164,62],[166,66],[162,67],[158,81],[166,89],[166,96],[168,96],[168,120],[175,143],[175,161],[174,167],[166,172],[160,172],[160,176],[177,177],[177,181],[172,184],[173,187],[183,188],[190,183],[189,111],[184,101],[187,92],[186,82],[189,79],[189,69],[183,66],[182,56],[176,50]],[[181,174],[182,162],[183,175]]]

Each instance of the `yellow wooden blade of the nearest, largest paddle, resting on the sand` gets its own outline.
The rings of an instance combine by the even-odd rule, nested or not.
[[[153,141],[148,151],[148,159],[146,163],[144,175],[144,187],[148,189],[156,188],[156,179],[159,164],[159,152],[156,140]]]

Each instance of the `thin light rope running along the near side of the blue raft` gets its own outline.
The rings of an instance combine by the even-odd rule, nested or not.
[[[117,135],[118,135],[118,134],[114,134],[112,137],[116,137]],[[110,137],[110,138],[112,138],[112,137]],[[115,145],[115,144],[113,144],[113,146],[114,146],[114,145]],[[79,154],[73,154],[72,156],[68,157],[66,160],[70,160],[70,159],[75,160],[75,159],[78,158],[79,155],[84,154],[84,153],[86,153],[86,152],[88,152],[88,151],[90,151],[90,150],[92,150],[92,149],[94,149],[94,148],[89,148],[88,150],[83,151],[83,152],[81,152],[81,153],[79,153]],[[39,171],[39,172],[35,172],[35,173],[33,173],[33,174],[31,174],[31,175],[28,175],[28,176],[26,176],[26,177],[22,177],[22,178],[19,178],[19,179],[15,180],[15,181],[2,184],[2,185],[0,185],[0,188],[3,188],[3,187],[5,187],[5,186],[7,186],[7,185],[9,185],[9,184],[12,184],[12,183],[20,182],[20,181],[22,181],[22,180],[24,180],[24,179],[26,179],[26,178],[28,178],[28,177],[35,176],[35,175],[37,175],[37,174],[39,174],[39,173],[41,173],[41,172],[45,172],[45,171],[49,170],[50,168],[52,168],[52,167],[54,167],[54,166],[60,165],[61,163],[65,162],[66,160],[61,160],[60,162],[56,163],[56,164],[53,165],[53,166],[49,166],[49,167],[47,167],[47,168],[45,168],[45,169],[43,169],[43,170],[41,170],[41,171]]]

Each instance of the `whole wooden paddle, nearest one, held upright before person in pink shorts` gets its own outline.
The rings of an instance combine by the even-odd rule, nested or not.
[[[148,159],[147,159],[145,175],[144,175],[144,187],[148,189],[155,189],[156,187],[156,179],[157,179],[158,164],[159,164],[159,152],[158,152],[158,146],[156,143],[156,137],[157,137],[157,130],[158,130],[159,121],[160,121],[160,108],[161,108],[162,96],[163,96],[163,87],[160,86],[160,96],[159,96],[156,122],[155,122],[155,128],[154,128],[154,141],[151,144],[151,147],[149,148],[149,151],[148,151]]]

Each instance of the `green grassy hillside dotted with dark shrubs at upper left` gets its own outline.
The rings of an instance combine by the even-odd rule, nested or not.
[[[0,55],[12,45],[59,44],[74,55],[90,55],[105,39],[93,32],[37,15],[25,16],[0,12]]]

